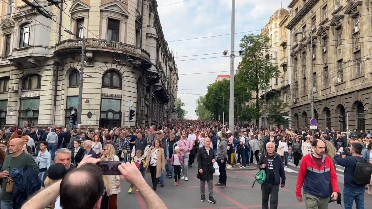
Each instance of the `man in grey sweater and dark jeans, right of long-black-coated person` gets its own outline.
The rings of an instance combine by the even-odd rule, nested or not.
[[[215,186],[219,186],[219,188],[224,189],[226,188],[226,161],[227,161],[227,148],[228,148],[228,139],[226,139],[226,133],[221,132],[221,141],[217,147],[217,164],[219,168],[219,179],[218,183]]]

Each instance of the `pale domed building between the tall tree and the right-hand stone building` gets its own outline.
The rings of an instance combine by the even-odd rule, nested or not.
[[[286,9],[278,9],[269,19],[269,23],[261,31],[261,35],[270,38],[270,48],[264,52],[267,59],[278,66],[280,74],[278,77],[271,78],[266,87],[266,106],[269,107],[273,98],[279,97],[283,101],[285,117],[291,117],[291,65],[288,60],[289,47],[287,42],[290,40],[290,31],[286,25],[291,20],[290,13]],[[261,94],[261,100],[264,101],[265,92]],[[267,109],[267,108],[266,108]],[[269,113],[266,112],[266,115]],[[264,115],[260,121],[264,126]],[[283,124],[283,128],[291,126],[291,123]]]

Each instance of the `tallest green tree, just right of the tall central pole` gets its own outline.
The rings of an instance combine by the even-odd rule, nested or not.
[[[270,38],[262,35],[244,36],[241,39],[241,63],[236,76],[239,82],[246,82],[248,89],[256,91],[256,114],[259,113],[259,92],[266,87],[270,78],[278,77],[278,67],[264,57],[269,50]],[[258,119],[257,119],[258,124]]]

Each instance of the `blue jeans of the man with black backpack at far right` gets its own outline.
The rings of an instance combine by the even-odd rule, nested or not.
[[[364,190],[344,187],[344,208],[352,209],[355,200],[356,208],[364,209]]]

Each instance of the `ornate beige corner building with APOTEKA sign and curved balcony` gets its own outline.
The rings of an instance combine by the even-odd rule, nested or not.
[[[52,20],[22,1],[0,5],[1,128],[76,126],[83,44],[82,128],[156,125],[175,111],[177,65],[156,0],[65,1],[62,13],[44,7]]]

